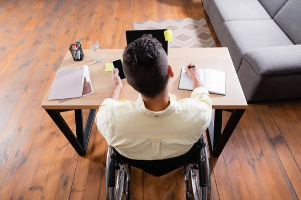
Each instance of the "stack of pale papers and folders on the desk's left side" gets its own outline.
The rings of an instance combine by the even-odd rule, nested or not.
[[[88,65],[58,69],[48,100],[64,102],[93,93]]]

